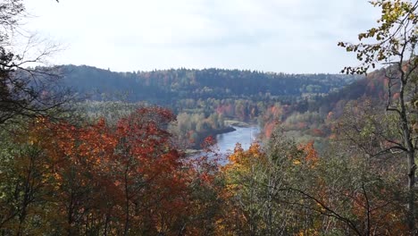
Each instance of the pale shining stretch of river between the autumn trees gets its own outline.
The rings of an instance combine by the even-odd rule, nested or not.
[[[248,149],[260,132],[258,126],[246,128],[234,126],[234,129],[237,131],[216,135],[217,147],[221,154],[233,152],[237,143],[240,143],[245,150]]]

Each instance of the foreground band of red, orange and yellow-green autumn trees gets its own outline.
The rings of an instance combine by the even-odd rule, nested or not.
[[[218,162],[212,137],[205,139],[206,155],[189,158],[167,131],[173,121],[166,109],[143,107],[113,125],[39,117],[16,130],[2,143],[8,148],[0,165],[6,180],[0,185],[0,232],[406,232],[397,200],[403,193],[396,178],[384,177],[393,175],[390,166],[381,169],[353,152],[322,157],[314,141],[297,144],[280,129],[247,150],[237,144],[227,162]]]

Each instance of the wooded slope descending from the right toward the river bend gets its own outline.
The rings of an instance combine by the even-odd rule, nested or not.
[[[269,107],[260,119],[264,136],[269,137],[274,124],[301,141],[315,139],[318,142],[330,135],[331,123],[344,114],[348,104],[369,99],[381,105],[388,97],[388,79],[385,68],[376,70],[360,80],[355,80],[338,91],[326,96],[314,96],[290,105],[275,104]]]

